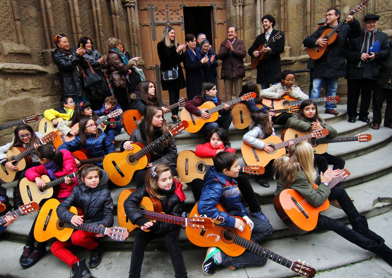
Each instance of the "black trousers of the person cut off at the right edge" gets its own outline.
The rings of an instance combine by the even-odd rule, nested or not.
[[[392,125],[392,90],[377,86],[373,91],[373,124],[381,125],[381,110],[385,99],[387,100],[387,109],[385,110],[384,126]]]

